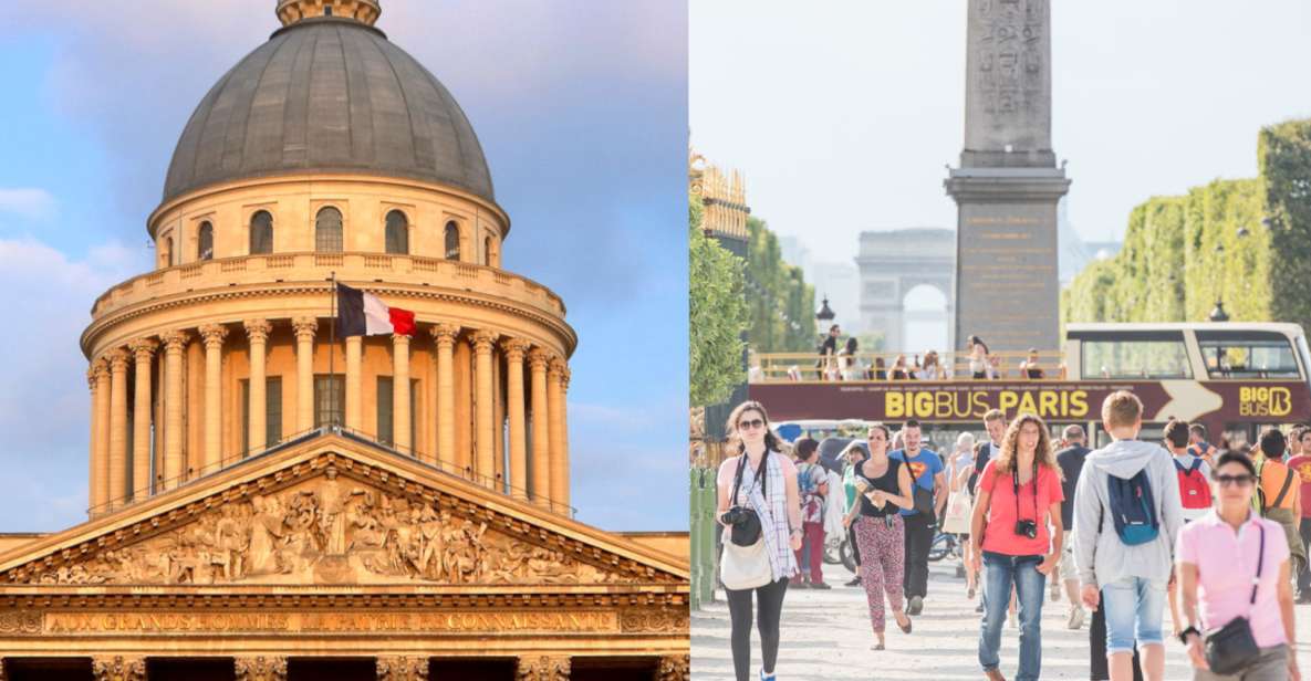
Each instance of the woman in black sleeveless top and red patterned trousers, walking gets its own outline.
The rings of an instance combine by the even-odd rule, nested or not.
[[[906,526],[899,511],[910,508],[911,477],[905,462],[888,456],[888,427],[869,426],[869,457],[855,469],[860,503],[853,504],[843,525],[855,526],[860,545],[860,581],[869,601],[869,622],[874,627],[871,650],[884,650],[884,593],[897,626],[910,634],[910,617],[902,612],[902,571],[906,566],[903,542]]]

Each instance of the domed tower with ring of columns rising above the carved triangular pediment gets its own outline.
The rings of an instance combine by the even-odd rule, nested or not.
[[[501,268],[510,219],[468,118],[376,0],[277,10],[182,131],[155,271],[92,309],[92,516],[323,427],[569,513],[577,337]],[[333,280],[417,333],[336,338]]]

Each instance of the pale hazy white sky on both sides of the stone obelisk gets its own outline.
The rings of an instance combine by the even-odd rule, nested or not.
[[[1306,0],[1051,4],[1053,148],[1086,240],[1118,240],[1152,195],[1255,175],[1259,128],[1311,115]],[[692,144],[746,174],[755,215],[822,261],[865,229],[954,227],[965,0],[690,9]]]

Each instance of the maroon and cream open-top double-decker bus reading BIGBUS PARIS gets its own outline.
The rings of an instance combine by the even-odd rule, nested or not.
[[[1063,351],[1040,352],[1037,361],[996,358],[983,380],[957,371],[964,355],[944,355],[948,377],[939,380],[888,380],[873,369],[895,356],[756,355],[750,397],[776,422],[914,418],[936,431],[939,445],[952,437],[944,431],[977,432],[990,409],[1033,413],[1053,427],[1078,423],[1104,444],[1101,402],[1116,390],[1142,399],[1143,439],[1159,437],[1171,418],[1205,424],[1215,441],[1249,443],[1262,427],[1311,422],[1311,351],[1294,323],[1071,323]],[[1042,377],[1007,368],[1021,359]],[[823,371],[834,361],[842,371]]]

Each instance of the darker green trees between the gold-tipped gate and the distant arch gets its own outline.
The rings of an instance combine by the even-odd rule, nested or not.
[[[747,338],[759,352],[804,352],[815,343],[815,292],[800,267],[783,261],[779,237],[747,217]]]

